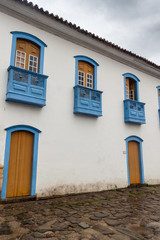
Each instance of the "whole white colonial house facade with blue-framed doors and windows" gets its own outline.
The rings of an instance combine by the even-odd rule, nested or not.
[[[1,198],[160,183],[160,67],[0,0]]]

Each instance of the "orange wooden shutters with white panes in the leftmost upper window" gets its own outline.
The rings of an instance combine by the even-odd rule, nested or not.
[[[17,39],[15,66],[38,72],[39,52],[40,49],[36,44],[24,39]]]

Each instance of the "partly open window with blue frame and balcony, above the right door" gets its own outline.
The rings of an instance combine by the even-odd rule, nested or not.
[[[124,121],[144,124],[145,103],[139,101],[140,80],[131,73],[125,73],[124,77]]]

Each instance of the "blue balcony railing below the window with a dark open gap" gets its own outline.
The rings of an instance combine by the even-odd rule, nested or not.
[[[124,100],[124,121],[138,124],[146,123],[144,105],[145,103],[131,99]]]

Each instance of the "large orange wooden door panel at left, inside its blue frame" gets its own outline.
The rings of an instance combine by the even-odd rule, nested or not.
[[[33,138],[27,131],[11,134],[6,197],[30,195]]]

